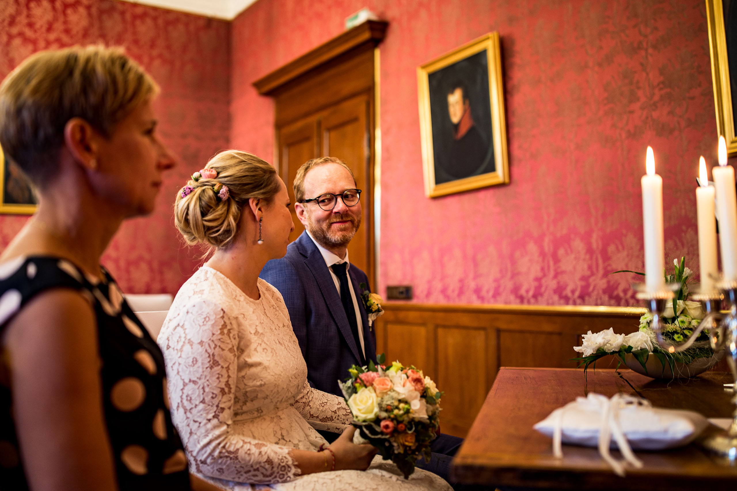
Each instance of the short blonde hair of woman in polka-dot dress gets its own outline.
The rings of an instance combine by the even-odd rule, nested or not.
[[[69,119],[110,136],[116,123],[158,93],[121,48],[74,46],[35,53],[0,85],[0,145],[38,187],[59,170]]]

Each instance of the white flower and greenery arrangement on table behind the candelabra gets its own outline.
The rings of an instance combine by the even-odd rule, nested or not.
[[[680,261],[673,260],[673,274],[666,274],[666,283],[680,283],[680,288],[673,299],[668,302],[666,310],[663,313],[663,337],[675,344],[688,339],[693,334],[694,329],[699,326],[699,322],[704,318],[705,313],[702,311],[699,302],[691,302],[691,292],[688,290],[688,283],[691,282],[693,272],[686,268],[685,257]],[[644,276],[638,271],[615,271],[615,273],[635,273]],[[657,344],[655,332],[650,327],[652,314],[646,313],[640,317],[640,330],[632,334],[615,334],[612,328],[608,330],[588,334],[582,337],[582,344],[573,347],[583,356],[581,358],[573,358],[578,361],[579,366],[584,366],[584,371],[592,363],[599,358],[607,355],[614,355],[624,362],[624,357],[628,353],[632,353],[635,359],[645,368],[649,355],[653,355],[660,361],[663,368],[668,364],[671,371],[674,369],[676,362],[689,364],[697,358],[710,358],[714,355],[713,349],[709,346],[709,338],[706,332],[701,332],[696,342],[690,348],[682,352],[670,353],[666,349],[660,348]]]

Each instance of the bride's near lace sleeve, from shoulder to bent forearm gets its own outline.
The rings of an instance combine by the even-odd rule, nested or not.
[[[161,340],[172,419],[189,462],[202,476],[254,484],[292,481],[290,448],[231,432],[237,377],[237,331],[223,309],[197,299]]]

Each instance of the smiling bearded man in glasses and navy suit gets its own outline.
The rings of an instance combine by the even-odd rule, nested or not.
[[[294,197],[305,231],[286,256],[266,263],[261,277],[284,297],[310,385],[342,397],[338,379],[348,377],[352,365],[377,363],[376,335],[361,298],[360,284],[368,285],[368,278],[348,257],[361,223],[360,189],[343,161],[322,157],[297,170]],[[321,433],[328,441],[338,436]],[[450,456],[462,442],[441,434],[433,441],[433,459],[422,467],[447,479]]]

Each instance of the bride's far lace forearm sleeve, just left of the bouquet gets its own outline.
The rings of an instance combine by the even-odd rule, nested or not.
[[[353,420],[343,397],[313,389],[307,380],[293,407],[318,430],[343,433]]]

